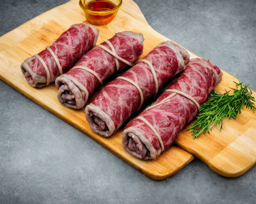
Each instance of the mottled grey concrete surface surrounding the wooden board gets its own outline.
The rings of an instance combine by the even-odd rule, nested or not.
[[[1,0],[0,36],[67,0]],[[148,23],[256,91],[256,2],[135,0]],[[0,203],[256,203],[256,166],[237,178],[195,159],[163,181],[0,81]]]

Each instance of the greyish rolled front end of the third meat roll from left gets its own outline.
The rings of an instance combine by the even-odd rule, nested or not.
[[[93,132],[109,137],[115,131],[115,125],[112,119],[99,107],[89,104],[85,108],[85,116]]]

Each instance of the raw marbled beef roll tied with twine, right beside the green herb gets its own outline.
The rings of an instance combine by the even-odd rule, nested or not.
[[[196,116],[221,77],[217,66],[191,59],[177,81],[125,127],[124,149],[139,159],[155,159]]]

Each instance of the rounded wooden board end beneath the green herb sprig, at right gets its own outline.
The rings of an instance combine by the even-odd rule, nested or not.
[[[230,88],[235,88],[238,80],[227,72],[223,72],[221,83],[215,90],[225,93]],[[256,98],[255,92],[253,97]],[[256,114],[250,109],[242,109],[237,118],[223,119],[223,129],[219,127],[193,139],[185,130],[187,125],[177,136],[176,144],[194,156],[198,157],[216,173],[237,177],[256,163]]]

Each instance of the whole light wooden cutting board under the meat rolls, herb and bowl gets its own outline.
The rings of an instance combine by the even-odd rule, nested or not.
[[[173,145],[156,160],[144,161],[124,151],[121,130],[109,138],[93,133],[85,119],[84,109],[73,110],[59,103],[54,84],[41,89],[31,87],[20,70],[20,64],[26,58],[51,45],[70,25],[81,22],[88,23],[78,6],[78,1],[72,0],[0,37],[0,79],[156,180],[165,179],[183,168],[193,160],[194,156],[191,154],[205,161],[215,172],[229,177],[239,176],[255,164],[256,116],[251,111],[244,110],[236,120],[225,120],[223,131],[219,132],[216,129],[211,134],[202,135],[195,140],[189,132],[182,131],[178,135],[176,144],[186,151]],[[100,30],[97,44],[125,30],[142,33],[145,41],[140,58],[159,43],[169,40],[148,25],[139,7],[132,0],[124,0],[115,19],[110,24],[97,28]],[[191,58],[197,57],[191,52],[189,54]],[[229,87],[233,87],[234,79],[224,72],[222,82],[216,87],[216,91],[223,93],[225,89],[229,90]],[[255,92],[253,95],[256,96]]]

